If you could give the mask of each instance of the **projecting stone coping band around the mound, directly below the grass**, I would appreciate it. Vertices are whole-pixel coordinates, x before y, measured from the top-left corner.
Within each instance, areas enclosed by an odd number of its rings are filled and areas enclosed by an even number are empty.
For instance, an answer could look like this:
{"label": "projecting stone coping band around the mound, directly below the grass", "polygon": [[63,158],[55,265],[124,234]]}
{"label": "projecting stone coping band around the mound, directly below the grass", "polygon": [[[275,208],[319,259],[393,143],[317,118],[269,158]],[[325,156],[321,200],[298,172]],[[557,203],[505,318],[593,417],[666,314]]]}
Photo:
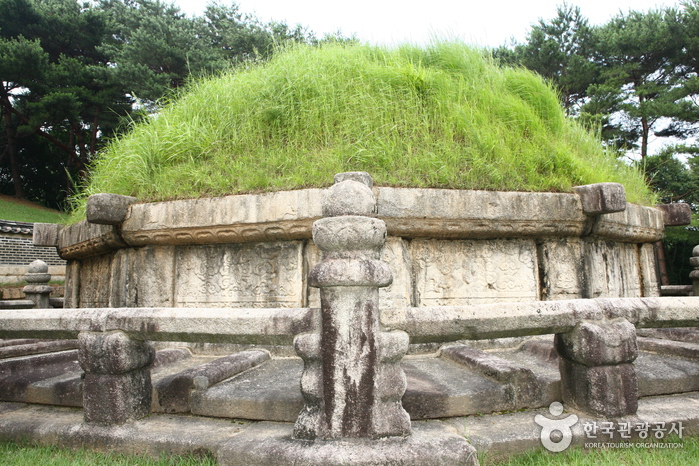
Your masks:
{"label": "projecting stone coping band around the mound, directly below the grass", "polygon": [[[133,204],[120,224],[62,228],[57,245],[74,259],[129,246],[310,239],[325,195],[302,189]],[[593,235],[644,243],[664,231],[659,209],[627,203],[622,212],[586,215],[578,194],[378,187],[374,195],[388,235],[405,238]]]}

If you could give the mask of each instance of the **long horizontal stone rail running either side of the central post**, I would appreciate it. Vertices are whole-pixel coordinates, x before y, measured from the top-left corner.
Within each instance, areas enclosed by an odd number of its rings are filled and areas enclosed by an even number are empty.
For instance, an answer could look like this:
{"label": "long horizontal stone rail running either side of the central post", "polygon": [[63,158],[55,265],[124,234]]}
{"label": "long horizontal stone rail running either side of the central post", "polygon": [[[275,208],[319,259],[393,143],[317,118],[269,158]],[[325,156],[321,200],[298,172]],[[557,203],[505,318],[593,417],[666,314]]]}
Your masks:
{"label": "long horizontal stone rail running either side of the central post", "polygon": [[[76,338],[121,330],[142,340],[291,344],[318,328],[319,311],[222,308],[0,310],[0,338]],[[412,343],[566,333],[583,321],[624,318],[638,328],[699,326],[699,297],[597,298],[470,306],[407,307],[381,312],[385,330]]]}

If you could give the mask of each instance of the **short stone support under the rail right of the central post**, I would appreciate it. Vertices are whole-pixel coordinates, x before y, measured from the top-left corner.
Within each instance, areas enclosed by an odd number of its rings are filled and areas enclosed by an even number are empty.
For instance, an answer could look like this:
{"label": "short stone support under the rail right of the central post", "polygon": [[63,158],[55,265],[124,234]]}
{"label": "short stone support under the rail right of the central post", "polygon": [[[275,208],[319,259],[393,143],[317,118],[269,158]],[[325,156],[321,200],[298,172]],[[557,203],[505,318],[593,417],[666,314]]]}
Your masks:
{"label": "short stone support under the rail right of the central post", "polygon": [[563,402],[602,417],[636,414],[636,328],[626,319],[582,322],[556,335]]}

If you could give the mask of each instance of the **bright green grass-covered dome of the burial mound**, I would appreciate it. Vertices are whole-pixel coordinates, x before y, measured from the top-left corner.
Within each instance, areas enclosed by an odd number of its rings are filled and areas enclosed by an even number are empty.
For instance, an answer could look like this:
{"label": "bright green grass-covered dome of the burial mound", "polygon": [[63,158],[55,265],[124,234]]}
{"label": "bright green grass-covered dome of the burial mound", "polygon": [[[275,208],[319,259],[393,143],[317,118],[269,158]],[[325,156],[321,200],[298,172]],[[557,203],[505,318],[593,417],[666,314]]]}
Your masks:
{"label": "bright green grass-covered dome of the burial mound", "polygon": [[386,49],[295,47],[200,81],[97,159],[97,192],[164,200],[326,186],[569,191],[615,181],[651,196],[637,171],[565,118],[556,93],[460,43]]}

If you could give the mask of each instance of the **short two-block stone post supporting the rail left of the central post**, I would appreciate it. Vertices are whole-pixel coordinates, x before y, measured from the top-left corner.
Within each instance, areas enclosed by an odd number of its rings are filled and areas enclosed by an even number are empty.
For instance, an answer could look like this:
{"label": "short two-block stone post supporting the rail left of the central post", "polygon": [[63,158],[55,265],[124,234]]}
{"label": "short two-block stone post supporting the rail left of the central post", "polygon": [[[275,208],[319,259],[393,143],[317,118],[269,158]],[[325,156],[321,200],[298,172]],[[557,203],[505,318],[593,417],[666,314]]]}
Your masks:
{"label": "short two-block stone post supporting the rail left of the central post", "polygon": [[86,423],[118,425],[150,414],[152,343],[113,331],[81,332],[78,345]]}

